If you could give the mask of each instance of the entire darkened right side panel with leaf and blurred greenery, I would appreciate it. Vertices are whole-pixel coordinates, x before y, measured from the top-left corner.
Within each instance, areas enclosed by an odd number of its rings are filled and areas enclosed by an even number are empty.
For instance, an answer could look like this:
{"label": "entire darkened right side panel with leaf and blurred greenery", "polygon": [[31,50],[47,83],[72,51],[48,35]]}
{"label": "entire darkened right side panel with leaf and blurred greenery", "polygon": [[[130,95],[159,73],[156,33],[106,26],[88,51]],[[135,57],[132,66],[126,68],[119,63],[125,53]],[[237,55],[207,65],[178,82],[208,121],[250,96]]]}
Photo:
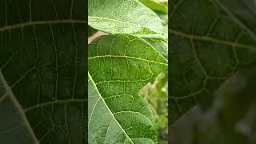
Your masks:
{"label": "entire darkened right side panel with leaf and blurred greenery", "polygon": [[255,1],[170,4],[170,142],[255,143]]}

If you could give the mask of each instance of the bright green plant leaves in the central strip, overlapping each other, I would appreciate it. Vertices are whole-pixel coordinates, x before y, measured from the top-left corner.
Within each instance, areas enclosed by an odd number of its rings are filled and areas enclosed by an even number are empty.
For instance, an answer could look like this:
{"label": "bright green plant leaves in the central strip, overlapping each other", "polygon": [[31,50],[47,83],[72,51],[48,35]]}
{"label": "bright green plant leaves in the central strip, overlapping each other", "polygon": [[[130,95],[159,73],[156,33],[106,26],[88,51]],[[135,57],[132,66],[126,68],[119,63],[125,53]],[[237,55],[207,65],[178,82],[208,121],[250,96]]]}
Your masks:
{"label": "bright green plant leaves in the central strip, overlapping each other", "polygon": [[[142,2],[166,12],[166,1]],[[158,141],[154,115],[139,91],[168,68],[167,25],[146,6],[89,0],[89,26],[109,34],[89,46],[89,143]]]}

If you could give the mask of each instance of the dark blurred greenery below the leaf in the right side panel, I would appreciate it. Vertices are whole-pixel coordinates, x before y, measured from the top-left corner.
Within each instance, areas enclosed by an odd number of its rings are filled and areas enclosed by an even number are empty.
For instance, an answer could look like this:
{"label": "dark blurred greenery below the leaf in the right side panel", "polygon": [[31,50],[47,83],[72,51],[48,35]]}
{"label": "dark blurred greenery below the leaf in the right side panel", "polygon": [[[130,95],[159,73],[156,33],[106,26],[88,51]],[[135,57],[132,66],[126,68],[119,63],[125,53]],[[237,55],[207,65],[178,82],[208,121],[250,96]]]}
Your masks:
{"label": "dark blurred greenery below the leaf in the right side panel", "polygon": [[[215,93],[207,110],[196,106],[171,126],[170,142],[180,144],[256,143],[256,66],[236,74]],[[189,133],[187,133],[189,131]]]}

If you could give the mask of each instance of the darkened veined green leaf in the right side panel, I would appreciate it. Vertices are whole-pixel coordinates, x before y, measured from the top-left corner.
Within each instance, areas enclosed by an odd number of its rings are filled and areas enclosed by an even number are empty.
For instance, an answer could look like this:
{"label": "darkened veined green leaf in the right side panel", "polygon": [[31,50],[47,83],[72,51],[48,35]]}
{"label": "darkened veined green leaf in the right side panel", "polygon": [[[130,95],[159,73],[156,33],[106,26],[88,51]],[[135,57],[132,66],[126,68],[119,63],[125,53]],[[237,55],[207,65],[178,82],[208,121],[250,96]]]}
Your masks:
{"label": "darkened veined green leaf in the right side panel", "polygon": [[200,102],[256,58],[256,9],[252,0],[174,0],[170,12],[170,119]]}

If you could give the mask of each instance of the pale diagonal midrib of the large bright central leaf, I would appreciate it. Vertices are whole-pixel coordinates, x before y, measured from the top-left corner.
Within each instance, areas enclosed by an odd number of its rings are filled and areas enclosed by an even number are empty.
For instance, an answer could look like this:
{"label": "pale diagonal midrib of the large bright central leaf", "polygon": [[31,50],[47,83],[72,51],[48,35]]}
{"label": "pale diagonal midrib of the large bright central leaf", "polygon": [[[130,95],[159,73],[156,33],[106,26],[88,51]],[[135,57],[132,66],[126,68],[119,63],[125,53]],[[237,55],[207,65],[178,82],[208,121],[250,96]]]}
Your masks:
{"label": "pale diagonal midrib of the large bright central leaf", "polygon": [[[122,129],[123,133],[126,134],[126,130],[124,130],[124,129],[122,128],[122,126],[119,124],[118,120],[114,117],[114,114],[113,114],[112,111],[110,110],[109,106],[107,106],[106,102],[104,101],[104,98],[102,98],[102,94],[99,93],[98,88],[97,88],[97,86],[96,86],[96,84],[95,84],[93,78],[91,78],[89,72],[88,72],[88,77],[89,77],[89,79],[91,80],[91,82],[93,83],[95,90],[97,90],[98,95],[99,95],[99,98],[102,99],[102,102],[106,105],[107,110],[110,111],[111,116],[112,116],[112,117],[114,118],[114,120],[118,123],[118,126]],[[93,113],[92,113],[92,114],[93,114]],[[91,115],[90,115],[90,117],[91,117]],[[90,125],[90,123],[88,123],[88,125]],[[132,143],[134,144],[134,142],[131,140],[131,138],[128,136],[128,134],[126,134],[126,137],[129,138],[130,142],[132,142]]]}

